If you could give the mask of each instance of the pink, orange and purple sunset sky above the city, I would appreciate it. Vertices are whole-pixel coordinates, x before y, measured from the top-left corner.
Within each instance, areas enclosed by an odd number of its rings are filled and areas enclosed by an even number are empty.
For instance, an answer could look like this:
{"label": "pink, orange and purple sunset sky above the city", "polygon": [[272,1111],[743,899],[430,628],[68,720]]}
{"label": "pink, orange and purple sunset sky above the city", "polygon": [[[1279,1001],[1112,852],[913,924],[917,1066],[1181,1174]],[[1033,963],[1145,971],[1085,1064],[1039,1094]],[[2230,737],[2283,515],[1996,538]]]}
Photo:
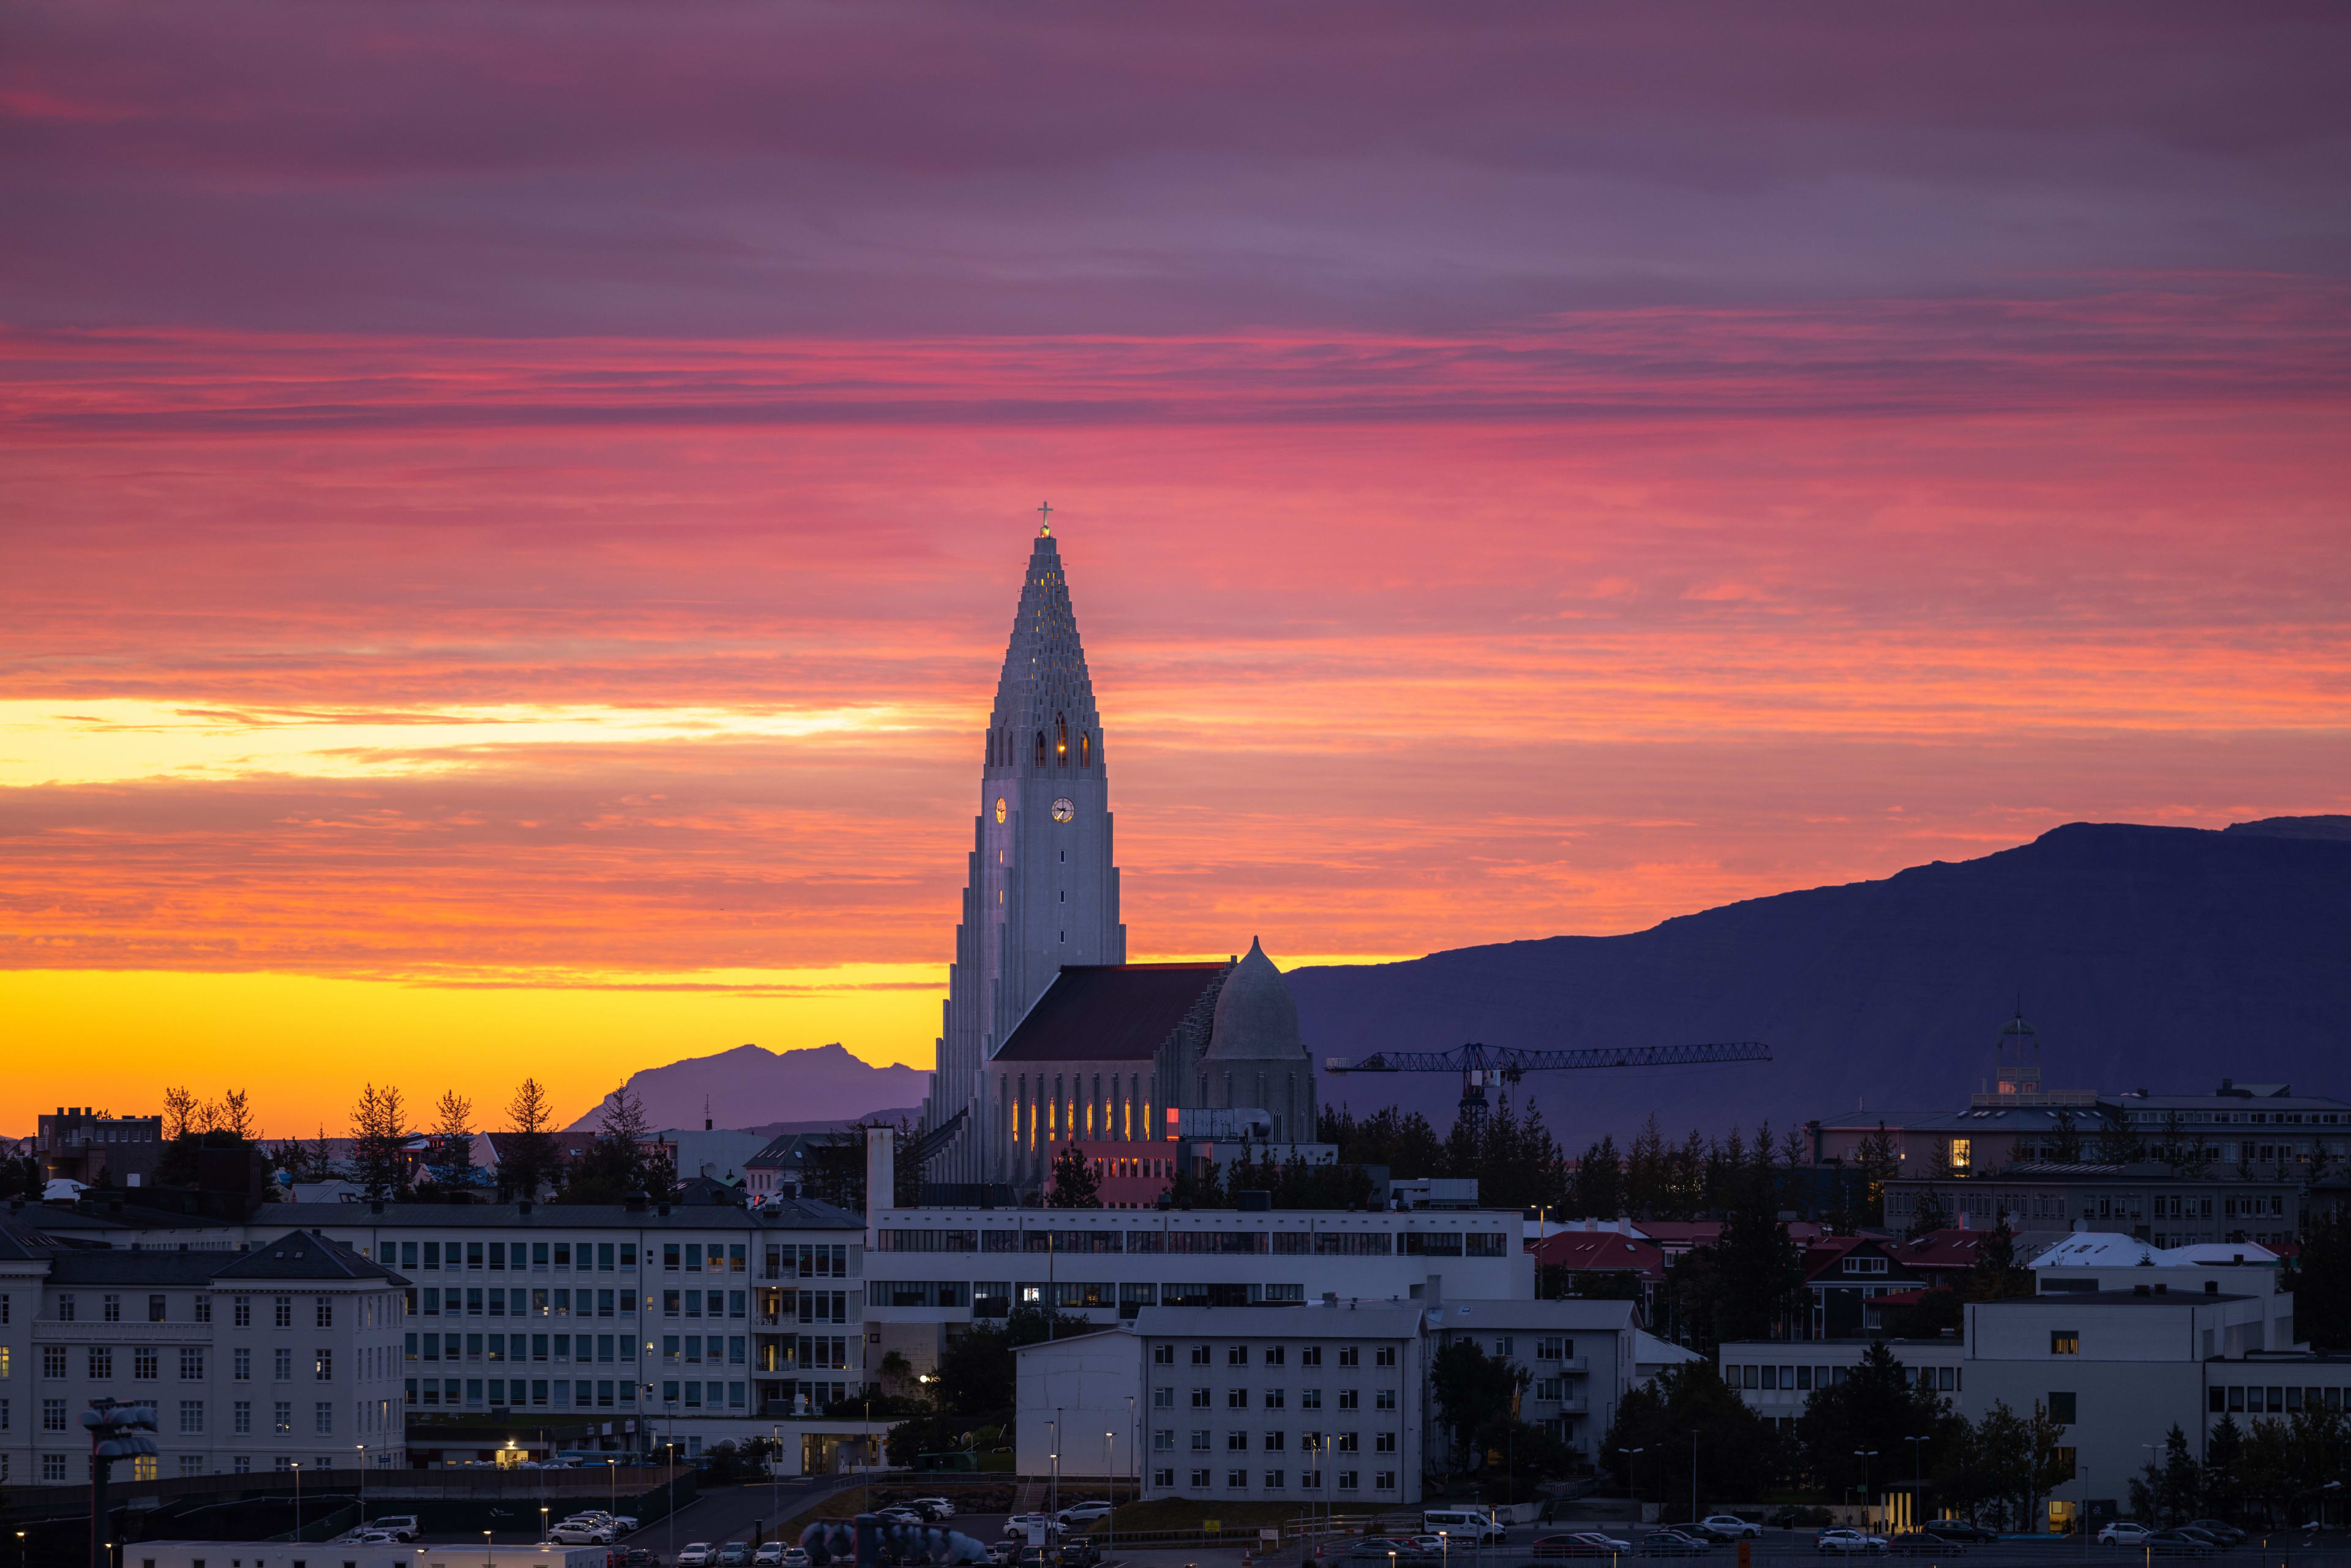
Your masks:
{"label": "pink, orange and purple sunset sky above the city", "polygon": [[[2351,12],[0,12],[0,1131],[2351,811]],[[1432,1041],[1455,1044],[1455,1041]]]}

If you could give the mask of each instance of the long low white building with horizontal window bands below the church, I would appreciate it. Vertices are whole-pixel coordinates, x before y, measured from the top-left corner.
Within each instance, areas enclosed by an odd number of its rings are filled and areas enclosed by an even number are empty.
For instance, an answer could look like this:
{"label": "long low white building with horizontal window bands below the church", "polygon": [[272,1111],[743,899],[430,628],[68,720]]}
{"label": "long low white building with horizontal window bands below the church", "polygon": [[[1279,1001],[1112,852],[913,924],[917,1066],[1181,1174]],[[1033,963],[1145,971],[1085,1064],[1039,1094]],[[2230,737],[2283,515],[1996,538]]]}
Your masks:
{"label": "long low white building with horizontal window bands below the church", "polygon": [[[1173,1147],[1173,1145],[1168,1145]],[[1112,1326],[1150,1307],[1531,1300],[1516,1211],[884,1208],[865,1253],[865,1349],[915,1371],[1013,1305]]]}

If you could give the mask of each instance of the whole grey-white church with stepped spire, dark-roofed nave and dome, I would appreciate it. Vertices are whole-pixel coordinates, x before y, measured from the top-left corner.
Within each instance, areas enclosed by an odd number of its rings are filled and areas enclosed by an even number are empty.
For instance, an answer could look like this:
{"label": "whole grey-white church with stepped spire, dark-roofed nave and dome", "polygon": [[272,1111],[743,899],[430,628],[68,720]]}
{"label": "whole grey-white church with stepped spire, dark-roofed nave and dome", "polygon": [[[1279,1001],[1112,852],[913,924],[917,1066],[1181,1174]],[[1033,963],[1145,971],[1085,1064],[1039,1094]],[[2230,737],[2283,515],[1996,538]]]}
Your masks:
{"label": "whole grey-white church with stepped spire, dark-roofed nave and dome", "polygon": [[[1248,1112],[1307,1143],[1314,1063],[1255,940],[1208,964],[1128,964],[1110,759],[1077,611],[1039,529],[997,701],[922,1131],[955,1124],[926,1178],[957,1201],[1034,1192],[1053,1154],[1166,1157],[1185,1112]],[[957,1117],[962,1121],[957,1124]]]}

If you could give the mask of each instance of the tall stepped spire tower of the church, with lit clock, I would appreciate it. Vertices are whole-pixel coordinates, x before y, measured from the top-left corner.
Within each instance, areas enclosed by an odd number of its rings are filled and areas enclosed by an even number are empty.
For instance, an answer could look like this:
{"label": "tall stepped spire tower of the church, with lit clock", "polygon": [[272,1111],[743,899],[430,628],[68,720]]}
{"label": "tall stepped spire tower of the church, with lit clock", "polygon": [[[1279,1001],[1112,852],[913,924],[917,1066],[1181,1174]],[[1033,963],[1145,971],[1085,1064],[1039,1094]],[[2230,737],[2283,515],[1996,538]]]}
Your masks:
{"label": "tall stepped spire tower of the church, with lit clock", "polygon": [[969,1110],[938,1182],[1002,1180],[987,1150],[987,1060],[1063,964],[1124,964],[1103,719],[1051,524],[1030,550],[997,703],[980,736],[980,813],[924,1128]]}

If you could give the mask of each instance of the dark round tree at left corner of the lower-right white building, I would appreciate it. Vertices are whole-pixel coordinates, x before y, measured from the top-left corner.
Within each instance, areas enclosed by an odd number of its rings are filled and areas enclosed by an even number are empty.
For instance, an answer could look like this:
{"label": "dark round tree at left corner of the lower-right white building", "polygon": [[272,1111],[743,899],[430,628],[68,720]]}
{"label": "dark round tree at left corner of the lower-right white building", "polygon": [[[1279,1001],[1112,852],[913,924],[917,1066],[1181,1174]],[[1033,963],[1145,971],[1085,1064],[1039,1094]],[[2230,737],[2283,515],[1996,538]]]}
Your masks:
{"label": "dark round tree at left corner of the lower-right white building", "polygon": [[1702,1516],[1707,1497],[1761,1497],[1784,1469],[1780,1436],[1723,1382],[1712,1361],[1669,1366],[1617,1401],[1601,1453],[1627,1495],[1634,1495],[1632,1448],[1646,1450],[1636,1495],[1655,1500],[1667,1521],[1693,1516],[1686,1514],[1693,1490]]}

